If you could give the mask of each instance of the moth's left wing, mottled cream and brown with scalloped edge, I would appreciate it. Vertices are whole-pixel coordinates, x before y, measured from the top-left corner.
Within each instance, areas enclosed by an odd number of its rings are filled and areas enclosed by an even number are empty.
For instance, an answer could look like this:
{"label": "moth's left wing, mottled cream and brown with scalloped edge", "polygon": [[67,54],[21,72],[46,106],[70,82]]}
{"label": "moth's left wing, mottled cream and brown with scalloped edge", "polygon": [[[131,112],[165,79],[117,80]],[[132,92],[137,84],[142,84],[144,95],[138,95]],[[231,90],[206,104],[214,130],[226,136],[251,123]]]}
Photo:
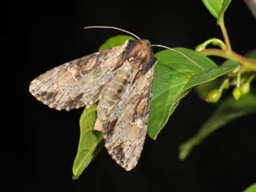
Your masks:
{"label": "moth's left wing, mottled cream and brown with scalloped edge", "polygon": [[57,110],[92,105],[102,87],[118,71],[128,42],[93,53],[43,73],[30,83],[30,93]]}

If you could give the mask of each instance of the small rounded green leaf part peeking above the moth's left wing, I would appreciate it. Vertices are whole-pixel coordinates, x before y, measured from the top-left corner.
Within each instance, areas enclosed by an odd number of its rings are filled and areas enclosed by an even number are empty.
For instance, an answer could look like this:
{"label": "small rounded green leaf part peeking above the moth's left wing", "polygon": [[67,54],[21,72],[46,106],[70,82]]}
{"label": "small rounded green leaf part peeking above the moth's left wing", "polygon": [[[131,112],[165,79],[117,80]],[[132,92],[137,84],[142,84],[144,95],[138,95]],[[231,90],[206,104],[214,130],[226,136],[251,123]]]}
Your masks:
{"label": "small rounded green leaf part peeking above the moth's left wing", "polygon": [[131,36],[114,36],[108,39],[102,46],[99,47],[99,50],[105,50],[111,47],[116,47],[125,43],[126,40],[134,39]]}

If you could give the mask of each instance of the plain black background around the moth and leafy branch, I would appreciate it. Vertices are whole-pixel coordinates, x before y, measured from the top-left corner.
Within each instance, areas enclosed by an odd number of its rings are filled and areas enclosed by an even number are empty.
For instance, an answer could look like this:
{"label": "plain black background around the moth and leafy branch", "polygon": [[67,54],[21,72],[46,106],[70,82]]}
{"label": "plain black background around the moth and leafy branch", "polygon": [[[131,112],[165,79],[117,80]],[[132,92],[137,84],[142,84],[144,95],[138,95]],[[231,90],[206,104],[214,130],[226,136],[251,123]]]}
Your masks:
{"label": "plain black background around the moth and leafy branch", "polygon": [[[69,113],[51,110],[28,93],[36,76],[93,53],[106,39],[120,34],[83,30],[85,26],[121,27],[154,44],[191,49],[211,37],[221,38],[215,19],[201,1],[7,1],[5,7],[5,50],[10,50],[10,61],[18,59],[7,64],[11,71],[16,70],[8,85],[13,85],[10,96],[18,104],[10,102],[11,113],[6,112],[15,117],[4,128],[11,136],[3,145],[6,191],[238,192],[256,181],[255,115],[229,123],[184,162],[178,159],[178,146],[214,111],[213,105],[202,102],[193,91],[158,139],[146,139],[133,171],[116,165],[104,149],[73,181],[82,109]],[[255,48],[256,22],[243,1],[230,5],[226,27],[238,53]]]}

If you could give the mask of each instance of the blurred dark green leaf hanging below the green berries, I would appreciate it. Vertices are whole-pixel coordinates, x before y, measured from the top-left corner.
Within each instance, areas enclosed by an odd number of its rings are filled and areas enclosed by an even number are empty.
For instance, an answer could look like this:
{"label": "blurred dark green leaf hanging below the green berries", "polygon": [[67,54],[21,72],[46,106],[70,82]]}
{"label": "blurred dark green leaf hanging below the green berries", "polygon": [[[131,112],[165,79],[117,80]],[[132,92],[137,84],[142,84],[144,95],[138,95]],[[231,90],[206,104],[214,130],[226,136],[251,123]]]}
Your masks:
{"label": "blurred dark green leaf hanging below the green berries", "polygon": [[215,112],[195,136],[180,145],[180,159],[186,159],[194,146],[203,142],[209,134],[240,116],[256,113],[256,94],[249,93],[235,101],[233,96],[221,102]]}

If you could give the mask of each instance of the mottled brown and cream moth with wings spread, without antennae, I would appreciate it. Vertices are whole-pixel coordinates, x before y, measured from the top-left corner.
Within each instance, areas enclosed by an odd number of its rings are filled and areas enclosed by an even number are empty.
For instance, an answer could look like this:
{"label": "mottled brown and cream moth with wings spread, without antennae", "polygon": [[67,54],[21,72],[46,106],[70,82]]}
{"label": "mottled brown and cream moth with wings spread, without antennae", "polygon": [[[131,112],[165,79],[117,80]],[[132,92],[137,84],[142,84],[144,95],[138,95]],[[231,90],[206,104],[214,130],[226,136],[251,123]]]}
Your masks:
{"label": "mottled brown and cream moth with wings spread, without antennae", "polygon": [[156,63],[148,40],[128,40],[43,73],[29,91],[56,110],[98,102],[93,129],[102,132],[116,163],[130,171],[140,159],[147,133]]}

